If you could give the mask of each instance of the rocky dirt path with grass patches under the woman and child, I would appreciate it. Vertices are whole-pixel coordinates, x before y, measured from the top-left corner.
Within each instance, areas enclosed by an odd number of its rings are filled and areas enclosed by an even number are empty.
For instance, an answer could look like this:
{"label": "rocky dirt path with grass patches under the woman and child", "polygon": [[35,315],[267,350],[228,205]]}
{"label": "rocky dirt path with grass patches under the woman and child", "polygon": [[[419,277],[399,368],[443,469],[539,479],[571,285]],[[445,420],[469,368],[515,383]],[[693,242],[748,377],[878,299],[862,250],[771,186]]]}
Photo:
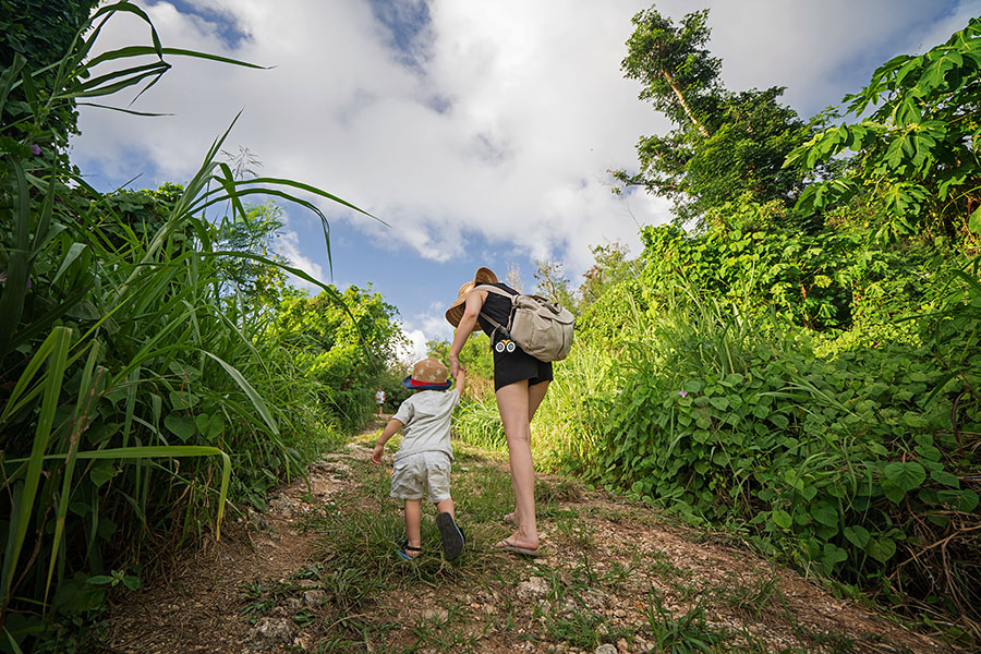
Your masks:
{"label": "rocky dirt path with grass patches under the woman and child", "polygon": [[368,461],[373,440],[326,456],[308,486],[279,488],[265,512],[129,595],[111,611],[109,651],[956,652],[746,548],[565,477],[542,475],[536,488],[546,555],[495,552],[509,533],[506,461],[462,446],[453,497],[464,554],[441,559],[431,511],[426,552],[401,562],[391,544],[400,507]]}

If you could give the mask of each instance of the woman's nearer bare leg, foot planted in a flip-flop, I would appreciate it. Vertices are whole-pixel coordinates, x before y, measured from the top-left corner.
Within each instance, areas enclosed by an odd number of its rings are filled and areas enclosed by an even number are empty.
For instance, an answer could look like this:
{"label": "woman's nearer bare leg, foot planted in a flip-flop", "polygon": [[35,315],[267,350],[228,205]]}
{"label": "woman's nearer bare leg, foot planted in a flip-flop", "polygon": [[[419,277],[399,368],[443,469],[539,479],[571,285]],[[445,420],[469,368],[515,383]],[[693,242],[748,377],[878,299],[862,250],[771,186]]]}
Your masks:
{"label": "woman's nearer bare leg, foot planted in a flip-flop", "polygon": [[538,529],[535,524],[535,469],[531,456],[528,380],[516,382],[499,389],[497,409],[508,440],[508,461],[518,519],[518,531],[508,541],[518,547],[536,549]]}

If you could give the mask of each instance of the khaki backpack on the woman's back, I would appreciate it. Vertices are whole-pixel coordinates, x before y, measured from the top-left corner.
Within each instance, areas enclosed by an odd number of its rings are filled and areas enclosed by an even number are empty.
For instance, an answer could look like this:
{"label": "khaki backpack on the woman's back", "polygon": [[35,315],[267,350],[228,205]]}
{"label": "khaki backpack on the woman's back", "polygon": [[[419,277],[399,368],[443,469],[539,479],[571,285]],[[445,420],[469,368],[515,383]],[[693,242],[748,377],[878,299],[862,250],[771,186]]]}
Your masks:
{"label": "khaki backpack on the woman's back", "polygon": [[576,318],[569,310],[541,295],[511,294],[491,284],[481,284],[473,290],[488,291],[511,301],[507,327],[483,312],[481,315],[494,325],[495,331],[499,330],[504,338],[514,341],[525,353],[545,362],[561,361],[569,355],[572,330],[576,328]]}

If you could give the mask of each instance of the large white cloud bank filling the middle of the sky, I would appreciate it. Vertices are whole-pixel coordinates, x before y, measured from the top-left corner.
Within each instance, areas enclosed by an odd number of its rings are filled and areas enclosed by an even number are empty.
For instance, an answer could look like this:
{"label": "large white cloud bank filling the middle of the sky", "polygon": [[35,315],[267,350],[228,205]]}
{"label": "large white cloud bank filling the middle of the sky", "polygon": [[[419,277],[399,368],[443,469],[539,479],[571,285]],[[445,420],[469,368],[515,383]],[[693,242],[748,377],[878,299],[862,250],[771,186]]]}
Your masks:
{"label": "large white cloud bank filling the middle of the sky", "polygon": [[[145,119],[83,110],[76,158],[107,166],[135,149],[158,180],[185,179],[205,145],[242,108],[229,144],[264,170],[319,185],[391,223],[363,229],[435,262],[477,239],[534,257],[588,263],[598,240],[637,240],[606,170],[629,166],[658,119],[619,71],[638,2],[431,3],[422,71],[402,65],[367,3],[211,0],[249,35],[220,32],[170,4],[148,8],[166,45],[275,65],[268,71],[174,59],[138,102]],[[518,16],[520,20],[516,20]],[[104,48],[145,29],[113,21]],[[132,161],[132,158],[128,159]],[[118,168],[108,168],[118,174]],[[335,207],[329,207],[337,216]],[[664,207],[639,203],[642,222]]]}

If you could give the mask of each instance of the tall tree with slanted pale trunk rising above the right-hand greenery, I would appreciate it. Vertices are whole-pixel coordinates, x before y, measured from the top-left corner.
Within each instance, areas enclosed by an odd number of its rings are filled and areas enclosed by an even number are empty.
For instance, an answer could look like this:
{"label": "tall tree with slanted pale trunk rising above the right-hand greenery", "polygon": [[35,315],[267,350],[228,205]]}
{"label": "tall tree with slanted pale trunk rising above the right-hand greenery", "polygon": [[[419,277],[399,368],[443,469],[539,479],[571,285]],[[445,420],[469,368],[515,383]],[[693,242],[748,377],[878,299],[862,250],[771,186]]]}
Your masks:
{"label": "tall tree with slanted pale trunk rising above the right-hand greenery", "polygon": [[812,133],[777,101],[783,87],[722,87],[722,62],[704,47],[707,16],[707,10],[687,14],[676,27],[653,7],[638,13],[621,64],[628,78],[644,85],[639,97],[676,126],[664,136],[641,137],[640,171],[617,170],[614,178],[671,198],[680,222],[701,223],[706,210],[747,194],[753,202],[790,204],[802,174],[783,162]]}

